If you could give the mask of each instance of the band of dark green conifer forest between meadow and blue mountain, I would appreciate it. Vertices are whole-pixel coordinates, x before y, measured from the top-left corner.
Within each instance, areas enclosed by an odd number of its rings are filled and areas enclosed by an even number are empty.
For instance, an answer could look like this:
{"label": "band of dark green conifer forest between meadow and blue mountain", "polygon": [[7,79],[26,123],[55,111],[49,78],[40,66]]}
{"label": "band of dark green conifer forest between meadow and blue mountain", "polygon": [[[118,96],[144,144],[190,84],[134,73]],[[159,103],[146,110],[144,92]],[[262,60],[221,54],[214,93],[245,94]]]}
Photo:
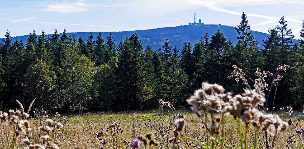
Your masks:
{"label": "band of dark green conifer forest between meadow and blue mountain", "polygon": [[55,29],[50,37],[34,30],[26,41],[12,41],[7,31],[0,45],[0,109],[15,108],[16,100],[27,107],[34,98],[33,108],[61,113],[153,109],[160,99],[187,108],[185,99],[205,81],[242,93],[242,82],[227,78],[233,65],[254,77],[256,68],[275,72],[281,64],[290,69],[278,84],[274,106],[302,108],[304,22],[302,39],[294,42],[282,17],[269,29],[262,49],[245,13],[235,29],[236,46],[218,30],[202,35],[194,46],[185,41],[182,49],[168,38],[159,49],[143,47],[136,33],[116,45],[111,34],[96,40],[91,34],[84,41],[67,36],[66,30],[60,36]]}

